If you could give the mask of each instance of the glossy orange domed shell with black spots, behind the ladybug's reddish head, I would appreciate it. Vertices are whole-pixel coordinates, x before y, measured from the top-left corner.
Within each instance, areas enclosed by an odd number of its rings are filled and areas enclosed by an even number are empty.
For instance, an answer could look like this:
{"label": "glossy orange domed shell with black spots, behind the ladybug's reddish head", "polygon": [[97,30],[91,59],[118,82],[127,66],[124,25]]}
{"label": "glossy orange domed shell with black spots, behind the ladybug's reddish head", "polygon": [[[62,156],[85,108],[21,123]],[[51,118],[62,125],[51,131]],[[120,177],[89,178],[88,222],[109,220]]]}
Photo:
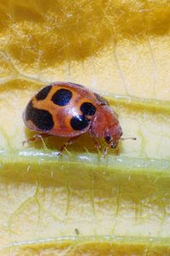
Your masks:
{"label": "glossy orange domed shell with black spots, behind the ladybug's reddish head", "polygon": [[104,98],[82,85],[57,82],[42,88],[26,106],[23,119],[34,131],[76,137],[88,131]]}

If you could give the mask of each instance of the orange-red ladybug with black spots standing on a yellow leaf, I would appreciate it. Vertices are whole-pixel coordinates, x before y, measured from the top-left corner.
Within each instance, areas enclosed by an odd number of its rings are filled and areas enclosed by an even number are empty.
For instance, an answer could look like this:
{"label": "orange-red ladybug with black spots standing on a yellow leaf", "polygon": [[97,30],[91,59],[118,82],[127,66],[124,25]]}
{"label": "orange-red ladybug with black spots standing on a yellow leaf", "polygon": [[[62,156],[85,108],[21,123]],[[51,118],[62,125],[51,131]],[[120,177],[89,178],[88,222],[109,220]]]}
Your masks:
{"label": "orange-red ladybug with black spots standing on a yellow leaf", "polygon": [[27,128],[39,131],[43,137],[70,137],[59,154],[86,132],[94,139],[96,148],[100,148],[98,138],[105,139],[107,148],[116,148],[122,137],[117,114],[109,103],[80,84],[56,82],[42,88],[27,104],[23,119]]}

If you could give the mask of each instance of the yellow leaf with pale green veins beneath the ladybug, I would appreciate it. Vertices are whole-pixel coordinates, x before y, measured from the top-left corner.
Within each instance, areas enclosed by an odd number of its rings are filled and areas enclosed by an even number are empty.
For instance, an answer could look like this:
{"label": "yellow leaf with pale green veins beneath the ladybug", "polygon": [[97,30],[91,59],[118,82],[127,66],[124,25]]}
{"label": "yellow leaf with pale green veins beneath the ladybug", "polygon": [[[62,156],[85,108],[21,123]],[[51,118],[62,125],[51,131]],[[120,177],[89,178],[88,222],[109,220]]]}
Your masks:
{"label": "yellow leaf with pale green veins beneath the ladybug", "polygon": [[[1,1],[0,254],[169,255],[170,3]],[[45,84],[105,96],[124,137],[104,157],[88,135],[34,133],[22,113]]]}

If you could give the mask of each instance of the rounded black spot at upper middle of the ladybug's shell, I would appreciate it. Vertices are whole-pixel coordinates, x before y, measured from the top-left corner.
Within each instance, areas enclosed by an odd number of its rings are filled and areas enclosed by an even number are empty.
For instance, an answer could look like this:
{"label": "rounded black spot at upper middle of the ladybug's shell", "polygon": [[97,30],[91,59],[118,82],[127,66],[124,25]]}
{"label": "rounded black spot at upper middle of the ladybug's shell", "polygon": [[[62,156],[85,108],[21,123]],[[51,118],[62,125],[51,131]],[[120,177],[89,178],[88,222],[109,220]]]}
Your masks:
{"label": "rounded black spot at upper middle of the ladybug's shell", "polygon": [[71,101],[71,97],[71,90],[59,89],[54,93],[51,100],[58,106],[66,106]]}

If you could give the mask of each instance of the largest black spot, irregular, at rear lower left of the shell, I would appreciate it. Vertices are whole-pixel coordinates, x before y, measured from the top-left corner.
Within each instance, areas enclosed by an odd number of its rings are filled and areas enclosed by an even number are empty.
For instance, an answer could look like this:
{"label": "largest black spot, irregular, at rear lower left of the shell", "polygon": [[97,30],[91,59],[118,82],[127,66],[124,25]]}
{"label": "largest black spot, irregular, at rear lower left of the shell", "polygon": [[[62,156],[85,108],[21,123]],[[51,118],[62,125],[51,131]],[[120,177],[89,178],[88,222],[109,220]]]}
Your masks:
{"label": "largest black spot, irregular, at rear lower left of the shell", "polygon": [[54,127],[54,120],[47,110],[34,108],[32,102],[26,107],[26,120],[31,120],[38,129],[49,131]]}

